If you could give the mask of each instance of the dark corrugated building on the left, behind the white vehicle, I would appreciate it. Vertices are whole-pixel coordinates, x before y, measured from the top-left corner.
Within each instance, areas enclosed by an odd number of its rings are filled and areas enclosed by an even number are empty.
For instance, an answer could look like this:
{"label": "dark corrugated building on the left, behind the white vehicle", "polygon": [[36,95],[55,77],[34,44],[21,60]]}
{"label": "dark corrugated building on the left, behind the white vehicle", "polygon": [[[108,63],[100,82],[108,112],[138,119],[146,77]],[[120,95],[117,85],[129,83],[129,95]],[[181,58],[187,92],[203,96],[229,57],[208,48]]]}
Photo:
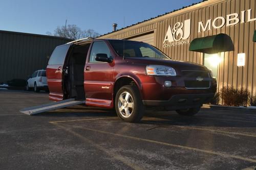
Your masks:
{"label": "dark corrugated building on the left, behind the white vehicle", "polygon": [[28,79],[35,70],[45,69],[47,56],[57,45],[70,40],[35,34],[0,31],[0,83]]}

